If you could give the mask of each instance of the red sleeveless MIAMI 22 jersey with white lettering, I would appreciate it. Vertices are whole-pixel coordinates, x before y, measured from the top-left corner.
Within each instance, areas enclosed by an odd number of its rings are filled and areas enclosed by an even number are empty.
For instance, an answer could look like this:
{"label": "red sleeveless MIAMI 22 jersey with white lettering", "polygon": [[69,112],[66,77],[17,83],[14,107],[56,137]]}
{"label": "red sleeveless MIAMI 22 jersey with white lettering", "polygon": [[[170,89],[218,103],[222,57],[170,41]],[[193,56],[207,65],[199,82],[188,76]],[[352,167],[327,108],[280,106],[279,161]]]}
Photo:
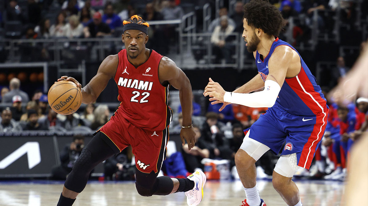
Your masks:
{"label": "red sleeveless MIAMI 22 jersey with white lettering", "polygon": [[144,130],[162,131],[169,126],[173,111],[167,103],[169,87],[162,86],[158,69],[162,55],[150,50],[146,62],[137,68],[127,58],[125,49],[118,53],[119,63],[114,80],[121,102],[110,121],[124,118]]}

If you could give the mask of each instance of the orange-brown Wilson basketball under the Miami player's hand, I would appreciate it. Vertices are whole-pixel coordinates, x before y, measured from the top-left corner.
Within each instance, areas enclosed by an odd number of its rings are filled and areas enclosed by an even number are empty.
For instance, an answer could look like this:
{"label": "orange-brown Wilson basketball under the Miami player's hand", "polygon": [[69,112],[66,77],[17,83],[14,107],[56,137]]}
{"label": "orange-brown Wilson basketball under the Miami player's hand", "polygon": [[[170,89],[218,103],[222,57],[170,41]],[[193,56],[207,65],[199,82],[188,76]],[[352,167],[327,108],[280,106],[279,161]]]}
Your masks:
{"label": "orange-brown Wilson basketball under the Miami player's hand", "polygon": [[71,81],[62,80],[53,84],[47,93],[52,110],[61,115],[76,112],[82,103],[82,91]]}

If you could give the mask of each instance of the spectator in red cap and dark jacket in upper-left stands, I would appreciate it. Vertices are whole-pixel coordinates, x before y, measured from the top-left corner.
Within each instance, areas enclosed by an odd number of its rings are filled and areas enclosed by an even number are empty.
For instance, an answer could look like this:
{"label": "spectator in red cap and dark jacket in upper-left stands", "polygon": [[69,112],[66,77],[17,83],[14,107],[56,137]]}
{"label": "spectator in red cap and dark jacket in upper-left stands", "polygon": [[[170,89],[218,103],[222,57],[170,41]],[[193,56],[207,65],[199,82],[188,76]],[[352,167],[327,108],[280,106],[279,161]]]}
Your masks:
{"label": "spectator in red cap and dark jacket in upper-left stands", "polygon": [[83,32],[86,38],[111,35],[111,29],[109,25],[102,22],[100,12],[93,14],[93,21],[84,28]]}

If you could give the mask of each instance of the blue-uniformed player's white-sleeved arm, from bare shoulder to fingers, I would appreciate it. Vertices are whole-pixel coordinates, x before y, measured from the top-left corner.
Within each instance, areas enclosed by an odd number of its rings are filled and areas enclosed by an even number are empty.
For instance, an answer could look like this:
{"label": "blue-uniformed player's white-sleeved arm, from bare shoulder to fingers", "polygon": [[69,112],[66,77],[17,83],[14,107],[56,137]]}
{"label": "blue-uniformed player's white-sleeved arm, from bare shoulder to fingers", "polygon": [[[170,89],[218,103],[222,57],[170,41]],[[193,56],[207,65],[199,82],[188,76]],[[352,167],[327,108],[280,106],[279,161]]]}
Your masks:
{"label": "blue-uniformed player's white-sleeved arm, from bare shoulder to fingers", "polygon": [[293,55],[293,50],[290,47],[276,47],[268,61],[269,73],[265,81],[265,89],[262,91],[251,94],[227,92],[219,83],[209,82],[205,90],[205,96],[210,95],[220,101],[255,108],[272,107],[284,83]]}

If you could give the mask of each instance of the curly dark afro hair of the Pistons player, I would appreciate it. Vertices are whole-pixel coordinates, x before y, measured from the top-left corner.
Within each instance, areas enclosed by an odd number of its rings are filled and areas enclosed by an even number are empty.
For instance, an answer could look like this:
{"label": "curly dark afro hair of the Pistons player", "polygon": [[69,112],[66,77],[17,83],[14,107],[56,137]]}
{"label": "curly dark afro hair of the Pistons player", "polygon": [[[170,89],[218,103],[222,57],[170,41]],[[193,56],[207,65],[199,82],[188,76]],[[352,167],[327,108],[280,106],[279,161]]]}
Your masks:
{"label": "curly dark afro hair of the Pistons player", "polygon": [[268,1],[251,0],[244,5],[244,18],[248,25],[262,29],[268,35],[278,36],[284,27],[281,12]]}

